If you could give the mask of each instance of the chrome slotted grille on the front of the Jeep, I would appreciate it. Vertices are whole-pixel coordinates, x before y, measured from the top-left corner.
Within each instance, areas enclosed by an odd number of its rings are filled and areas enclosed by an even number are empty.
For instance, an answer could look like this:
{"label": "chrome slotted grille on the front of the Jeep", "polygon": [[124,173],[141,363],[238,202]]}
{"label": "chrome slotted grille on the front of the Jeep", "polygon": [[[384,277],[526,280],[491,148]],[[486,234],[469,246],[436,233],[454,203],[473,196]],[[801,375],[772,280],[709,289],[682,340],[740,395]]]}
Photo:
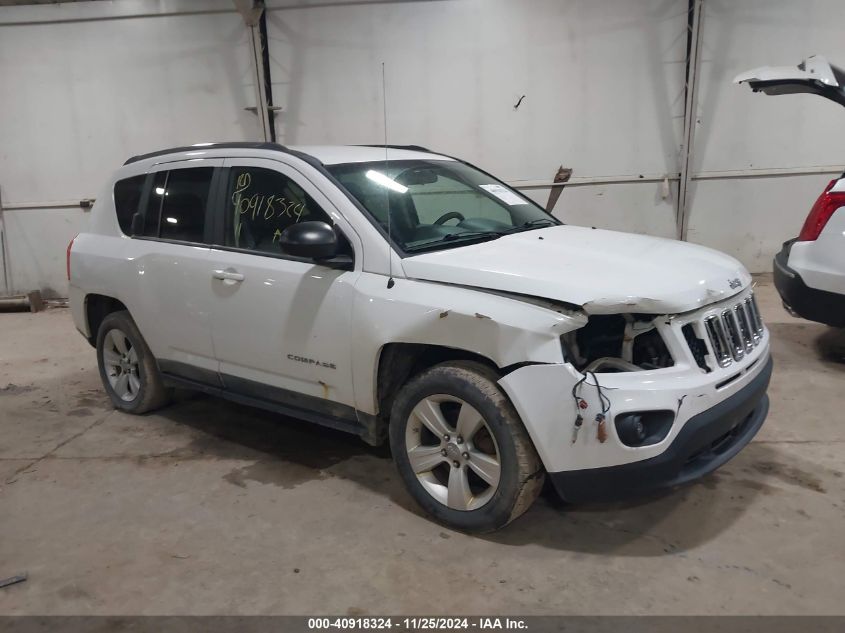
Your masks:
{"label": "chrome slotted grille on the front of the Jeep", "polygon": [[754,295],[735,306],[704,319],[710,347],[720,367],[727,367],[750,354],[763,339],[763,321]]}

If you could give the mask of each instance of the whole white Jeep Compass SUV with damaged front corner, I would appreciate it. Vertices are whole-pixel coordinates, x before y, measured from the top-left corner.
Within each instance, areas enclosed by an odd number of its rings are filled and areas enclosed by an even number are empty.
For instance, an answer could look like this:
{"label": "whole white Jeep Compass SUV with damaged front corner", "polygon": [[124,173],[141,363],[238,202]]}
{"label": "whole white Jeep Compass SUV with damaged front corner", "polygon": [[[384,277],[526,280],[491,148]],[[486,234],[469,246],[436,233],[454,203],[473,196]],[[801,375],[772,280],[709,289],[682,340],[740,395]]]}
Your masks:
{"label": "whole white Jeep Compass SUV with damaged front corner", "polygon": [[129,159],[68,246],[114,405],[171,386],[389,439],[438,521],[493,530],[681,484],[768,410],[751,277],[681,242],[565,226],[419,147],[203,144]]}

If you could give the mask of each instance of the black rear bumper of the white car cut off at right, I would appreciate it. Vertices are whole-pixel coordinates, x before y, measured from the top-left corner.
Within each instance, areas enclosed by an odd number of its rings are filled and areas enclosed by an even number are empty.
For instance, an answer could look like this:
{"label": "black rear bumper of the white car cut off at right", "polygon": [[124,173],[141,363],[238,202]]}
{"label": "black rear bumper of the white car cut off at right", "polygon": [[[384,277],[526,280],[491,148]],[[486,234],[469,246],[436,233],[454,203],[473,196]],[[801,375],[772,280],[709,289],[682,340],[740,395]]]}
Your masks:
{"label": "black rear bumper of the white car cut off at right", "polygon": [[786,306],[809,321],[845,327],[845,295],[810,288],[789,267],[789,251],[795,240],[784,242],[773,262],[775,288]]}

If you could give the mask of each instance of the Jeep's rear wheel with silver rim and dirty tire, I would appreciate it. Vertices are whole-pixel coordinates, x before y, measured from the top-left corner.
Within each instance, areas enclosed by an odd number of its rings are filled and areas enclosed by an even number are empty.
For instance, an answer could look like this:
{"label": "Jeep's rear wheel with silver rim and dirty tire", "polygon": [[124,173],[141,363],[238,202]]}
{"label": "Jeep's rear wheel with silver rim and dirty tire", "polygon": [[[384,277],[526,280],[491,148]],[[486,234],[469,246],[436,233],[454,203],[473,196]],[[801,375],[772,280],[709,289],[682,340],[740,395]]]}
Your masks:
{"label": "Jeep's rear wheel with silver rim and dirty tire", "polygon": [[156,360],[126,310],[108,314],[100,324],[97,365],[103,387],[116,409],[146,413],[170,399]]}

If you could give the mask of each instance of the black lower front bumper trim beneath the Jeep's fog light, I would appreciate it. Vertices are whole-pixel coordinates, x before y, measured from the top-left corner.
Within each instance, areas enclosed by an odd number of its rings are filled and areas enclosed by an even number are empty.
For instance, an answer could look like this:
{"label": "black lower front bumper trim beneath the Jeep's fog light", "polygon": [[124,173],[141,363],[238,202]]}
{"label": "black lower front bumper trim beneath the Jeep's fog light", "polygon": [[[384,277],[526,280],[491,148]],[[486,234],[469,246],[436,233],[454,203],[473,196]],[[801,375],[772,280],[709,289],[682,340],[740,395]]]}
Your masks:
{"label": "black lower front bumper trim beneath the Jeep's fog light", "polygon": [[660,455],[606,468],[548,473],[567,501],[611,501],[671,488],[713,472],[757,434],[769,411],[771,358],[743,389],[687,420]]}

